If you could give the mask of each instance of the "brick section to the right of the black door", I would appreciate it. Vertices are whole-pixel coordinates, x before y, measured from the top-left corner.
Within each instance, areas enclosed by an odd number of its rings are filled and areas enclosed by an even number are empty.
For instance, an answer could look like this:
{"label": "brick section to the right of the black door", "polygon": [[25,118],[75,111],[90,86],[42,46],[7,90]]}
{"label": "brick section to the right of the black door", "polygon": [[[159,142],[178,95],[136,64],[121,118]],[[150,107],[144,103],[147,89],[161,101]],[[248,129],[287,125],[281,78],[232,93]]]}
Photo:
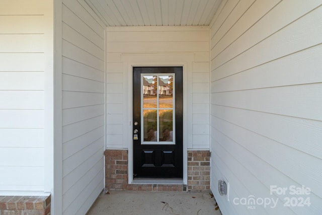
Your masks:
{"label": "brick section to the right of the black door", "polygon": [[209,151],[188,151],[188,190],[210,190]]}

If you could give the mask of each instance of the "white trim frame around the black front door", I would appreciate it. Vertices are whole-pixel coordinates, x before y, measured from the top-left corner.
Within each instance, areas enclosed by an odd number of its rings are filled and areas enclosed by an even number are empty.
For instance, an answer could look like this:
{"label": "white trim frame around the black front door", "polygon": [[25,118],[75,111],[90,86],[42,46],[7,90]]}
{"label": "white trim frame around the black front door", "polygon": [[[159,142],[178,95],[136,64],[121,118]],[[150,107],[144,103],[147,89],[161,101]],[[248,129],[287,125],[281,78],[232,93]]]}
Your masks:
{"label": "white trim frame around the black front door", "polygon": [[[133,67],[141,66],[141,67],[151,67],[151,66],[182,66],[182,76],[183,76],[183,184],[188,184],[188,144],[187,144],[187,79],[188,79],[188,63],[187,62],[144,62],[144,63],[135,63],[135,62],[128,62],[127,63],[127,70],[128,70],[128,96],[130,97],[130,102],[128,103],[128,116],[130,121],[130,129],[128,130],[128,184],[133,184]],[[192,65],[191,65],[192,66]]]}

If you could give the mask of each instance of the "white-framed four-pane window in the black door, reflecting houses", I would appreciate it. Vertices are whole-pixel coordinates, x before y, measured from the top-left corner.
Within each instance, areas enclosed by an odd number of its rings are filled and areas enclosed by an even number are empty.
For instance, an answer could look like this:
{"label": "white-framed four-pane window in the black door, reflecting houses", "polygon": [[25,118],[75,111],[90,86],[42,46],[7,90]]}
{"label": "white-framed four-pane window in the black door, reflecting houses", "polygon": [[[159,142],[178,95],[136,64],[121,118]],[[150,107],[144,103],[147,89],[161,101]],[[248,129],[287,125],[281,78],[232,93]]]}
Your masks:
{"label": "white-framed four-pane window in the black door, reflecting houses", "polygon": [[141,74],[141,144],[175,144],[174,78],[174,74]]}

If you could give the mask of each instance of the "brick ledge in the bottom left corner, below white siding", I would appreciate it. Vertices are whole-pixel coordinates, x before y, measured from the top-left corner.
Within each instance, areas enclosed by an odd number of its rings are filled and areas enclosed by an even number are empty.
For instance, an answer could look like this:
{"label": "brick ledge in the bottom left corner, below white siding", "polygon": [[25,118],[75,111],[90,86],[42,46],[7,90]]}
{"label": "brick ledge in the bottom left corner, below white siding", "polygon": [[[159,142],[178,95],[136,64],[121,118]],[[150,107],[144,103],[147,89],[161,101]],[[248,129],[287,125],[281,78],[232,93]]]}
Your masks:
{"label": "brick ledge in the bottom left corner, below white siding", "polygon": [[0,196],[0,215],[50,215],[50,196]]}

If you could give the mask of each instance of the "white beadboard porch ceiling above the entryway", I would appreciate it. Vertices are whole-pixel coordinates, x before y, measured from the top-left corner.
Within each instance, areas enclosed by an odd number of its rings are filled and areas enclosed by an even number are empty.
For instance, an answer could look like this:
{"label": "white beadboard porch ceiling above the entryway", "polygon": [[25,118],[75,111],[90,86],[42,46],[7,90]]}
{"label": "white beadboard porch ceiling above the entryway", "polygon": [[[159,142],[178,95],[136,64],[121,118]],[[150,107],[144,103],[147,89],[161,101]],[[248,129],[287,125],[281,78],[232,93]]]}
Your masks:
{"label": "white beadboard porch ceiling above the entryway", "polygon": [[106,26],[209,25],[222,0],[85,0]]}

